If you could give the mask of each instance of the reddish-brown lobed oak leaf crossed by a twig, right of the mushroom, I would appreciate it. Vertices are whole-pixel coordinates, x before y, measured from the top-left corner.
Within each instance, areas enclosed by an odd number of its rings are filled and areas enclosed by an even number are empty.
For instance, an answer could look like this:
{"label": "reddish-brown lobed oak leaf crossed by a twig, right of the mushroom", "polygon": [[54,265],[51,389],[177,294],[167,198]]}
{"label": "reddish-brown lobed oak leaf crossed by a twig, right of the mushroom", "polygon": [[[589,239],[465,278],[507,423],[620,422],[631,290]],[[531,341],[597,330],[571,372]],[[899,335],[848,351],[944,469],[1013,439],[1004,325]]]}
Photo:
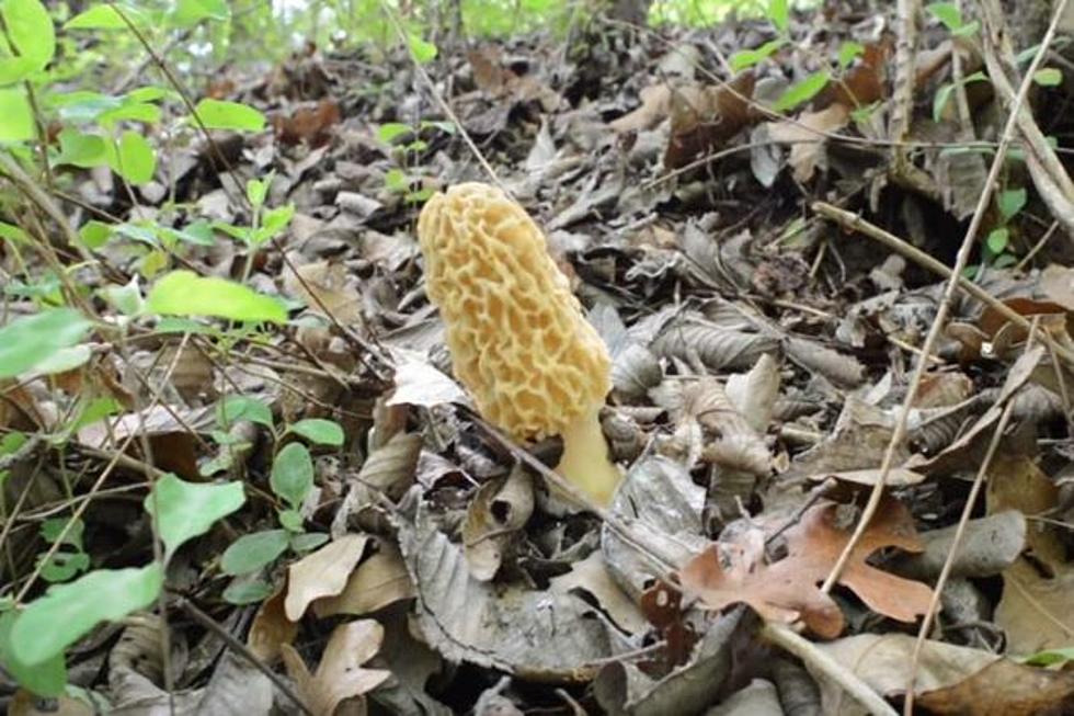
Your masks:
{"label": "reddish-brown lobed oak leaf crossed by a twig, right of the mushroom", "polygon": [[[756,530],[744,533],[744,544],[711,545],[679,570],[684,590],[696,594],[707,609],[722,610],[745,602],[767,620],[789,623],[801,618],[819,636],[838,636],[843,614],[818,589],[850,536],[835,524],[837,509],[836,504],[823,503],[807,511],[797,525],[787,530],[788,554],[775,564],[764,562],[764,539]],[[922,548],[910,512],[893,498],[884,498],[852,553],[839,583],[873,611],[913,622],[928,607],[932,590],[869,566],[866,559],[883,547],[907,552]]]}

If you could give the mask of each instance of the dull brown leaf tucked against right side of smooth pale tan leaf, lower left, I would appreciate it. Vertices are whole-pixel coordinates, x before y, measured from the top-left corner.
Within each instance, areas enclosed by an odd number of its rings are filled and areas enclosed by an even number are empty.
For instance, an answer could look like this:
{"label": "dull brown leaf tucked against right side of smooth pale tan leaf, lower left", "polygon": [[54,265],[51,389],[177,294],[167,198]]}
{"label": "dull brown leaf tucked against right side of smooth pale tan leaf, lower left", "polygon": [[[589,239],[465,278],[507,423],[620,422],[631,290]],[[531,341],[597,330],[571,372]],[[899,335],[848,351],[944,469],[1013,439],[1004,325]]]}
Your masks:
{"label": "dull brown leaf tucked against right side of smooth pale tan leaf, lower left", "polygon": [[378,542],[377,552],[351,572],[343,591],[316,600],[312,607],[318,618],[335,614],[361,616],[413,596],[414,584],[399,547]]}

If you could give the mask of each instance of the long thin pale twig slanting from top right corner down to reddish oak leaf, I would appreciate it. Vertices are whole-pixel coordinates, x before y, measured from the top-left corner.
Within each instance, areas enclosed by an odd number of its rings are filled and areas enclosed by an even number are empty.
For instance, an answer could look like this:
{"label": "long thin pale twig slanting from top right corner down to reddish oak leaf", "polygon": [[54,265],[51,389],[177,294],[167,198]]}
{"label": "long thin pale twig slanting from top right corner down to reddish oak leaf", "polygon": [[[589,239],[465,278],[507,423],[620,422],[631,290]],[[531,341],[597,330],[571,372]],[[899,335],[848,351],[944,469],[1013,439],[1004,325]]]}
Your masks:
{"label": "long thin pale twig slanting from top right corner down to reddish oak leaf", "polygon": [[[1060,3],[1060,9],[1065,7],[1066,0],[1062,0]],[[843,569],[850,559],[850,555],[853,555],[854,550],[857,549],[858,544],[860,544],[861,538],[865,536],[866,530],[869,529],[869,523],[872,521],[877,510],[880,508],[880,499],[883,497],[883,489],[888,481],[888,475],[891,473],[891,468],[894,464],[895,452],[906,437],[906,423],[910,418],[911,408],[914,404],[914,398],[917,396],[917,389],[921,387],[922,378],[925,376],[925,370],[928,366],[927,357],[932,354],[933,346],[936,344],[936,340],[939,338],[944,323],[947,321],[947,316],[950,312],[951,304],[953,303],[955,291],[959,286],[959,279],[962,276],[962,271],[966,269],[967,263],[969,263],[970,251],[973,248],[973,242],[976,239],[978,231],[981,228],[981,223],[984,219],[984,214],[989,207],[989,202],[992,200],[992,192],[995,189],[996,179],[999,177],[999,170],[1003,168],[1004,161],[1006,160],[1007,148],[1010,146],[1010,138],[1014,136],[1015,126],[1018,123],[1018,111],[1026,101],[1026,95],[1029,93],[1029,88],[1032,86],[1033,73],[1037,71],[1041,59],[1043,59],[1044,55],[1047,54],[1049,43],[1051,42],[1052,37],[1054,37],[1058,18],[1058,14],[1053,16],[1052,25],[1049,27],[1049,32],[1044,36],[1044,41],[1037,50],[1037,56],[1033,57],[1033,61],[1026,71],[1026,77],[1022,78],[1021,86],[1018,88],[1018,95],[1015,98],[1015,102],[1010,107],[1010,116],[1007,117],[1007,123],[1003,128],[999,147],[996,149],[996,156],[992,160],[992,167],[989,168],[989,175],[985,179],[984,187],[981,191],[981,197],[978,200],[976,208],[973,212],[973,218],[970,219],[970,226],[966,230],[966,237],[963,237],[962,245],[959,247],[958,254],[955,259],[955,266],[951,269],[951,276],[947,282],[947,285],[944,287],[944,295],[940,298],[936,317],[933,319],[933,325],[928,329],[925,343],[922,345],[922,355],[914,364],[914,373],[910,378],[910,385],[906,389],[906,397],[903,399],[902,406],[899,410],[899,417],[895,420],[895,428],[891,433],[891,440],[888,441],[888,447],[884,451],[883,462],[880,465],[880,475],[877,477],[877,481],[872,486],[872,491],[869,493],[869,501],[866,503],[866,507],[861,512],[861,519],[858,520],[858,524],[854,529],[854,534],[846,543],[846,546],[843,548],[843,554],[839,555],[835,566],[832,567],[832,571],[821,586],[821,590],[825,594],[831,592],[832,588],[838,581],[839,576],[843,573]]]}

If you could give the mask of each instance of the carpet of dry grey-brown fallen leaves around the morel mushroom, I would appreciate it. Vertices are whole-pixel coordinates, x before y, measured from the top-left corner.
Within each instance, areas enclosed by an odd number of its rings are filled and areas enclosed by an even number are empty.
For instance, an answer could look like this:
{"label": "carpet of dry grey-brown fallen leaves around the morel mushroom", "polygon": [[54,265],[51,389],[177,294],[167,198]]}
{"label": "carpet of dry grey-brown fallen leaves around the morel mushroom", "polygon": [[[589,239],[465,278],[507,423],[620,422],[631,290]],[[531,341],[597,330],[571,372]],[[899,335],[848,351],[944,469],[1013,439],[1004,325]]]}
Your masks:
{"label": "carpet of dry grey-brown fallen leaves around the morel mushroom", "polygon": [[[182,268],[198,281],[245,271],[289,302],[290,326],[237,344],[204,322],[147,333],[129,351],[94,344],[64,356],[55,376],[5,377],[0,425],[68,431],[70,457],[90,474],[117,462],[108,498],[83,518],[84,542],[65,547],[102,561],[151,553],[147,515],[112,499],[142,490],[147,466],[241,478],[258,499],[176,553],[167,621],[149,609],[122,630],[93,630],[69,652],[72,680],[77,671],[81,686],[132,714],[169,703],[296,713],[295,700],[325,715],[493,713],[488,704],[790,712],[786,694],[801,683],[810,713],[867,713],[848,681],[890,704],[913,684],[934,713],[1065,713],[1067,672],[1024,659],[1069,663],[1074,644],[1074,374],[1062,357],[1074,348],[1074,298],[1061,239],[1026,270],[979,249],[975,280],[994,303],[959,296],[880,509],[822,589],[879,479],[944,276],[820,219],[803,195],[837,200],[949,265],[979,191],[933,196],[896,175],[873,141],[896,101],[891,48],[837,15],[830,33],[810,16],[793,15],[793,43],[734,73],[722,60],[733,67],[736,52],[776,39],[772,26],[642,32],[593,19],[565,52],[544,35],[442,46],[425,67],[431,86],[400,48],[378,69],[311,47],[241,89],[210,88],[272,106],[271,128],[218,132],[168,158],[186,208],[161,220],[176,231],[237,223],[248,211],[233,197],[239,178],[275,172],[268,205],[294,207],[279,241],[243,270],[236,247],[192,240]],[[811,42],[839,58],[838,81],[774,114],[812,62]],[[860,49],[845,57],[852,42]],[[923,42],[911,81],[933,100],[968,68],[953,69],[962,50],[935,23]],[[358,82],[380,91],[346,91]],[[1037,109],[1061,101],[1060,89],[1042,88]],[[1002,105],[973,102],[994,134],[997,113],[985,109]],[[983,181],[937,148],[935,137],[964,129],[955,115],[927,115],[914,116],[923,171],[940,184],[957,171]],[[490,179],[464,129],[544,227],[608,348],[613,389],[599,418],[624,475],[606,509],[549,510],[561,441],[504,437],[453,377],[415,223],[433,192]],[[233,175],[213,169],[216,151]],[[132,206],[98,179],[80,175],[89,205],[124,221],[163,216],[163,194],[142,190]],[[1052,206],[1030,196],[1035,209]],[[1022,215],[1001,216],[989,220],[1010,226],[993,228],[1017,228],[1026,251],[1043,236]],[[102,250],[108,270],[142,271],[121,249]],[[112,280],[81,271],[92,287]],[[13,316],[27,308],[15,302]],[[278,320],[279,304],[262,308]],[[224,409],[225,396],[255,405]],[[929,610],[1005,407],[1014,419],[987,466],[986,500],[910,673],[905,632]],[[71,410],[73,429],[61,419]],[[343,444],[319,442],[317,423],[289,430],[302,419],[338,423]],[[277,455],[299,450],[311,486],[274,473]],[[36,451],[50,459],[33,465]],[[64,496],[65,464],[53,457],[0,458],[5,495],[20,500],[9,535],[18,554],[41,550],[31,526]],[[215,556],[239,537],[281,526],[274,559],[221,570]],[[230,639],[179,618],[179,594]],[[766,623],[800,632],[810,648],[780,656]],[[747,657],[732,668],[732,652]],[[0,684],[11,713],[35,713],[26,691],[7,675]]]}

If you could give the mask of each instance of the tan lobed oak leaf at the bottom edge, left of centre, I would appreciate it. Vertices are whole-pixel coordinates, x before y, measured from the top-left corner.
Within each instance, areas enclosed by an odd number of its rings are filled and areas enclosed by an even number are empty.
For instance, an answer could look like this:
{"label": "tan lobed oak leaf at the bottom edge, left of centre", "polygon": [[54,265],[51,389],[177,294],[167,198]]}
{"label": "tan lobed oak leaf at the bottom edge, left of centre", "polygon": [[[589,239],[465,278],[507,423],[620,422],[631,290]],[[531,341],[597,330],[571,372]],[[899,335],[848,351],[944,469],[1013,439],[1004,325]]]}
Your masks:
{"label": "tan lobed oak leaf at the bottom edge, left of centre", "polygon": [[381,641],[382,626],[373,620],[358,620],[335,627],[316,672],[310,673],[290,645],[284,645],[284,664],[315,716],[333,716],[347,700],[359,700],[357,708],[347,713],[365,714],[364,695],[391,675],[384,669],[362,668],[376,656]]}

